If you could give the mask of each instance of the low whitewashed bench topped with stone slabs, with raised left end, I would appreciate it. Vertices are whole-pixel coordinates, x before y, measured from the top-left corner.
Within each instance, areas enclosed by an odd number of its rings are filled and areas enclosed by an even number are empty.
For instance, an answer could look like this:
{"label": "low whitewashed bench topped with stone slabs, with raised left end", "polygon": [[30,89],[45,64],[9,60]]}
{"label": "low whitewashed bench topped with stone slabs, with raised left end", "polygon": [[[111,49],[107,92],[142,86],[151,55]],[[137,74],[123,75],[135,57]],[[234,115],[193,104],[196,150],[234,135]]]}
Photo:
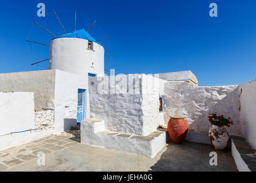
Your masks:
{"label": "low whitewashed bench topped with stone slabs, with raised left end", "polygon": [[83,144],[151,158],[156,156],[166,144],[165,132],[157,130],[148,136],[111,132],[104,128],[104,121],[95,121],[84,120],[81,122],[81,142]]}

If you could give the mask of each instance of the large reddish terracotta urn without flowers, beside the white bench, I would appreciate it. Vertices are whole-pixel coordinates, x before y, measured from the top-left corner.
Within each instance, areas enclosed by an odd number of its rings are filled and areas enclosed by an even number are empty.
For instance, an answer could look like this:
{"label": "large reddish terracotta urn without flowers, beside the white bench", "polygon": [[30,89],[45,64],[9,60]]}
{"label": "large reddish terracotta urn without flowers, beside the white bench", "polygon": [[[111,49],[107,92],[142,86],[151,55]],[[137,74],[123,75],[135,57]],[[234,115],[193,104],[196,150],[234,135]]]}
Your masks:
{"label": "large reddish terracotta urn without flowers, beside the white bench", "polygon": [[188,124],[184,117],[171,116],[168,121],[168,133],[174,144],[181,144],[188,133]]}

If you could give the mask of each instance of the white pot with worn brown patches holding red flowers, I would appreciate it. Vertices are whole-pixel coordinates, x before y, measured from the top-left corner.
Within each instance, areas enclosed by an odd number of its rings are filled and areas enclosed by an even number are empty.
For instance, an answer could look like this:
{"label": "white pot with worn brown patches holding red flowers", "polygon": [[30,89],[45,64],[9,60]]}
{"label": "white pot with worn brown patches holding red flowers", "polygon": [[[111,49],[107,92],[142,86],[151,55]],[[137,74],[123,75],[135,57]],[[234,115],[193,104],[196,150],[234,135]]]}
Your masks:
{"label": "white pot with worn brown patches holding red flowers", "polygon": [[215,149],[223,150],[226,148],[229,136],[225,127],[219,128],[219,126],[212,125],[209,130],[209,137]]}

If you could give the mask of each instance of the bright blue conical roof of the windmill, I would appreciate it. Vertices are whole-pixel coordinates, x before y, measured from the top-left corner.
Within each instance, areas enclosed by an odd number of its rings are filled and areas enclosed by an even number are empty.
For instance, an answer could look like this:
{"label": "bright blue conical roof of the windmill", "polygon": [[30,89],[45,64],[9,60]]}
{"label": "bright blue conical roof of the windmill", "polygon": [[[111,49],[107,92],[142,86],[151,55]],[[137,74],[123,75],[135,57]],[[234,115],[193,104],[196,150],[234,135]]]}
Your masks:
{"label": "bright blue conical roof of the windmill", "polygon": [[[93,37],[91,37],[90,34],[87,33],[84,29],[79,29],[76,31],[73,31],[72,33],[67,33],[63,35],[59,35],[54,39],[57,38],[80,38],[80,39],[87,39],[88,41],[96,42],[98,43]],[[98,43],[100,45],[100,43]]]}

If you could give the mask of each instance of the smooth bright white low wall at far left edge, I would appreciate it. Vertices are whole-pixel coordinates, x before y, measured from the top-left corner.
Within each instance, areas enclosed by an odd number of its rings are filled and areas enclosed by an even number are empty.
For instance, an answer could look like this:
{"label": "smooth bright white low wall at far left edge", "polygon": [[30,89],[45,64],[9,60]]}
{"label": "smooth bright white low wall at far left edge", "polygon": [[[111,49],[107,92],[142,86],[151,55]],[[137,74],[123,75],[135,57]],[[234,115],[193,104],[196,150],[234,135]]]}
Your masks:
{"label": "smooth bright white low wall at far left edge", "polygon": [[30,132],[14,133],[34,129],[34,93],[0,92],[0,150],[29,142]]}

